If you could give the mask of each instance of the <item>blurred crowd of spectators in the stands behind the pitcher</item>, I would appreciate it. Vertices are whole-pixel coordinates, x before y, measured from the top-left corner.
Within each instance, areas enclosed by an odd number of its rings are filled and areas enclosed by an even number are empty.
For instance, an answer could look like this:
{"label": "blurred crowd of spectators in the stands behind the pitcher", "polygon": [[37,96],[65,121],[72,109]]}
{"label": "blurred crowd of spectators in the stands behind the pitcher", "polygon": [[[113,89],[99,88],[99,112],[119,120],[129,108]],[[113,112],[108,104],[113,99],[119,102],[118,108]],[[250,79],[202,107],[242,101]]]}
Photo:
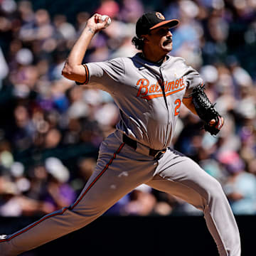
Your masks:
{"label": "blurred crowd of spectators in the stands behind the pitcher", "polygon": [[[93,11],[84,1],[73,22],[50,14],[50,4],[33,8],[36,2],[0,0],[1,216],[43,215],[75,201],[119,112],[107,93],[63,78],[65,58],[95,12],[109,15],[112,24],[93,38],[85,62],[134,55],[137,18],[153,10],[180,19],[171,55],[201,73],[225,117],[212,137],[182,107],[174,148],[220,181],[235,214],[256,213],[255,0],[102,0]],[[106,214],[201,213],[142,185]]]}

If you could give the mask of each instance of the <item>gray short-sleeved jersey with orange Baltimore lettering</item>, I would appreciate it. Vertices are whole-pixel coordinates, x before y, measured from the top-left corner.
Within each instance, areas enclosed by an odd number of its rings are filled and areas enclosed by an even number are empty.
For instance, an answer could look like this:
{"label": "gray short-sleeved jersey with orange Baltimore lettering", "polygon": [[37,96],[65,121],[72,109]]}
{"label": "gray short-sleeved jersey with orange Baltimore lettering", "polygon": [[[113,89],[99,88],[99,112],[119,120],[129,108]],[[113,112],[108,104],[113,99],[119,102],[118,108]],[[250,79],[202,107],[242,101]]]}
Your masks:
{"label": "gray short-sleeved jersey with orange Baltimore lettering", "polygon": [[109,92],[118,105],[117,129],[153,149],[171,145],[183,97],[203,82],[183,58],[172,56],[156,65],[137,53],[132,58],[87,63],[85,69],[87,84]]}

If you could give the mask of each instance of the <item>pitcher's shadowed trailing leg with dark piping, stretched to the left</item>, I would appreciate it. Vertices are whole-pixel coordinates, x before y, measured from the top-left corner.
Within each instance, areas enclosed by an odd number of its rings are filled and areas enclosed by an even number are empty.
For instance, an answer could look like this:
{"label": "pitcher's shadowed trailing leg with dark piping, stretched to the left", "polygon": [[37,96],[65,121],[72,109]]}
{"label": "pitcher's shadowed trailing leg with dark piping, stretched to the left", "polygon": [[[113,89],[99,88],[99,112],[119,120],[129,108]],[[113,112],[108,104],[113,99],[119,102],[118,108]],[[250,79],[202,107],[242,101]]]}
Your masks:
{"label": "pitcher's shadowed trailing leg with dark piping, stretched to the left", "polygon": [[[130,159],[133,154],[139,155],[140,164]],[[96,170],[78,200],[1,240],[0,255],[18,255],[82,228],[133,188],[149,181],[155,166],[149,156],[136,153],[117,139],[107,139],[101,146]]]}

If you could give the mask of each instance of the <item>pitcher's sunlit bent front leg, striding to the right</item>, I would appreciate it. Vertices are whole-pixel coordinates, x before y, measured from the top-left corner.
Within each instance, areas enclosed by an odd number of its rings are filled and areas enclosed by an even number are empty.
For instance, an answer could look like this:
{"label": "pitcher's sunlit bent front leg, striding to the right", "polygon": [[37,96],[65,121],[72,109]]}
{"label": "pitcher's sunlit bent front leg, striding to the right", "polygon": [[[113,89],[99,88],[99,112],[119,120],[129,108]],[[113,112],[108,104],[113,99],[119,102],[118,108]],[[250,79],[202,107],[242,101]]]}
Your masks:
{"label": "pitcher's sunlit bent front leg, striding to the right", "polygon": [[160,159],[157,175],[147,183],[203,210],[208,230],[221,256],[240,256],[240,235],[220,183],[198,164],[176,151]]}

